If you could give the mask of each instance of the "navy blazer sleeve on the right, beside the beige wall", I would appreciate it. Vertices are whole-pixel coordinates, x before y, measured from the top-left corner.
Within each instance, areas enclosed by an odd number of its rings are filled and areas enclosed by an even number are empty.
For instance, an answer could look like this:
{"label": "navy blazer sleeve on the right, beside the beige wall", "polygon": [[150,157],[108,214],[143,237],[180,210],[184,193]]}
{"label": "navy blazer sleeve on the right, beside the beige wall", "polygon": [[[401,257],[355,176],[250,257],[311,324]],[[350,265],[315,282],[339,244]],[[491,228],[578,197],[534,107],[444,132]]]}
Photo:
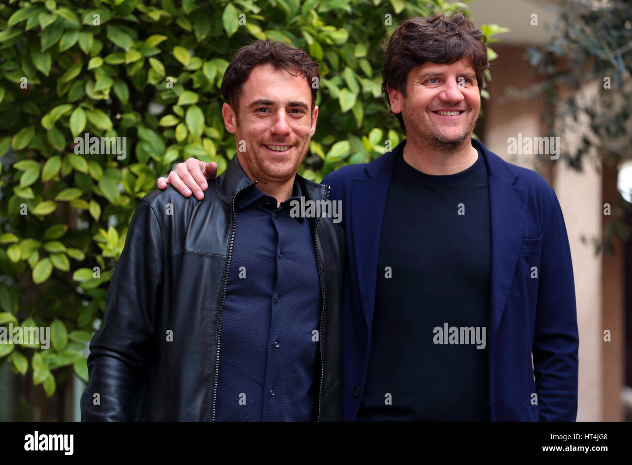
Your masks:
{"label": "navy blazer sleeve on the right, beside the beige wall", "polygon": [[540,421],[575,421],[579,335],[573,264],[562,209],[551,193],[542,226],[533,372]]}

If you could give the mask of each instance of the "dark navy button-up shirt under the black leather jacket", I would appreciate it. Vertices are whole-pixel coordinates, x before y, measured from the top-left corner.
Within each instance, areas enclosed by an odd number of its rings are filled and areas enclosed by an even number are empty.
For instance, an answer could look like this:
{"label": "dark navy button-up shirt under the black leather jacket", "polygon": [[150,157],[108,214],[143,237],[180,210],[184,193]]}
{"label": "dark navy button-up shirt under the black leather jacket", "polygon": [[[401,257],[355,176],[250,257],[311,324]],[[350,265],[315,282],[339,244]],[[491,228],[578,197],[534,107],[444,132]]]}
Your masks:
{"label": "dark navy button-up shirt under the black leather jacket", "polygon": [[[295,179],[292,199],[301,196]],[[320,283],[309,221],[256,185],[235,201],[217,421],[312,421]]]}

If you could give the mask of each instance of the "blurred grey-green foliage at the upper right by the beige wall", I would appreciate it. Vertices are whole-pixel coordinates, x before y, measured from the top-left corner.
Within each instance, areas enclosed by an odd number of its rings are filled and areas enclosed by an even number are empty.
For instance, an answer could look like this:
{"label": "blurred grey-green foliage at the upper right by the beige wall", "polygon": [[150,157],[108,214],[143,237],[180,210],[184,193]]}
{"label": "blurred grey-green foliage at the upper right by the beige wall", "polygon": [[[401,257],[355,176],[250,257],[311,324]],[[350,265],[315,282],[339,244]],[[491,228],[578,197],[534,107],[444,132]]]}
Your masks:
{"label": "blurred grey-green foliage at the upper right by the beige wall", "polygon": [[[573,143],[561,144],[561,159],[575,170],[621,166],[632,159],[632,4],[562,0],[550,8],[557,18],[549,25],[551,39],[528,49],[541,77],[531,97],[544,94],[551,109],[545,113],[548,135],[573,134]],[[615,240],[629,239],[626,209],[623,199],[612,205],[601,237],[592,238],[595,253],[613,253]]]}

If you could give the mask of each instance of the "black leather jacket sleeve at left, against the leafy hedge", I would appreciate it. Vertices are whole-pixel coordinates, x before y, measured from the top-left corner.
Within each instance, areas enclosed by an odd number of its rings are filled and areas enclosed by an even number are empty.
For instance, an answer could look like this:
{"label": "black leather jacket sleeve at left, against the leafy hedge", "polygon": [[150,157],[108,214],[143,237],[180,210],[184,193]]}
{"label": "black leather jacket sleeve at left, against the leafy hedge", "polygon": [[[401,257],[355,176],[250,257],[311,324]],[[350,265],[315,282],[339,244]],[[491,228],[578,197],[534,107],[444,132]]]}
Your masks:
{"label": "black leather jacket sleeve at left, against the leafy hedge", "polygon": [[103,324],[90,342],[82,421],[132,419],[136,381],[154,333],[163,249],[154,210],[141,200],[112,274]]}

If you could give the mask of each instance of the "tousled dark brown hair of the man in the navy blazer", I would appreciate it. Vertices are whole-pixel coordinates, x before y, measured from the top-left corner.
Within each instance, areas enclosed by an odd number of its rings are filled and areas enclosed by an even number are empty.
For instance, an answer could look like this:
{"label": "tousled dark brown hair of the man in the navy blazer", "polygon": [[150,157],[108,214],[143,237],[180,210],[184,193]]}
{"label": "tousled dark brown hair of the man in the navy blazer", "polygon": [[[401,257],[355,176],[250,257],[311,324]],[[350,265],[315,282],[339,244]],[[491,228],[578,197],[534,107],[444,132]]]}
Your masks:
{"label": "tousled dark brown hair of the man in the navy blazer", "polygon": [[[468,58],[477,78],[478,90],[483,89],[487,61],[487,37],[463,13],[453,16],[410,18],[402,22],[382,48],[386,49],[382,70],[382,92],[387,105],[386,87],[399,90],[406,97],[408,73],[424,63],[451,65]],[[401,113],[395,115],[405,132]]]}

